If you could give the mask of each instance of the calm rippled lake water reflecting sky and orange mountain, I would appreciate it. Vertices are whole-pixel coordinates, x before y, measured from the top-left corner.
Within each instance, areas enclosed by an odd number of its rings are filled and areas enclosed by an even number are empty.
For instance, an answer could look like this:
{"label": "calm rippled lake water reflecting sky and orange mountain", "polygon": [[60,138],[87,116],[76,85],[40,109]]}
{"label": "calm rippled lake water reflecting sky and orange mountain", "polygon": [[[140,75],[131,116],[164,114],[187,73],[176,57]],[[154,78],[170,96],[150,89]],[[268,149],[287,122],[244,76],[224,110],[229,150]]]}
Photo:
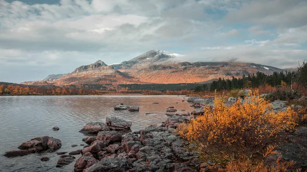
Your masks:
{"label": "calm rippled lake water reflecting sky and orange mountain", "polygon": [[[86,122],[105,121],[108,115],[132,122],[132,131],[165,120],[165,110],[174,106],[191,111],[183,96],[0,96],[0,171],[74,171],[74,162],[56,168],[59,155],[55,153],[31,154],[6,158],[6,151],[17,150],[20,143],[34,137],[51,136],[61,140],[58,152],[82,149],[72,144],[84,144],[85,137],[78,131]],[[152,104],[158,102],[159,104]],[[178,102],[178,104],[176,104]],[[114,111],[114,105],[123,103],[140,106],[140,112]],[[145,115],[145,113],[155,113]],[[57,126],[59,131],[53,131]],[[49,157],[47,162],[41,157]],[[79,156],[76,156],[76,159]]]}

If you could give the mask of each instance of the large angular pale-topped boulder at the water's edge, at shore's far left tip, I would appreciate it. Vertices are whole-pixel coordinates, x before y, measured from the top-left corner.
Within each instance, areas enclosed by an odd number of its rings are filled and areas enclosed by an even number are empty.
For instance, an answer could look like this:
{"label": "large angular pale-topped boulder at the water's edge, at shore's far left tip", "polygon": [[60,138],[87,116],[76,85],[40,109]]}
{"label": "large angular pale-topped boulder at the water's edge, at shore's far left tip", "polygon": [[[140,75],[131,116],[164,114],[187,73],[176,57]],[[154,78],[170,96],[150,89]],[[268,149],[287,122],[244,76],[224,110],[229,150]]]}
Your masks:
{"label": "large angular pale-topped boulder at the water's edge, at shore's far left tip", "polygon": [[115,116],[107,116],[105,119],[105,124],[111,129],[111,130],[130,130],[132,122],[127,122],[126,120],[120,119]]}

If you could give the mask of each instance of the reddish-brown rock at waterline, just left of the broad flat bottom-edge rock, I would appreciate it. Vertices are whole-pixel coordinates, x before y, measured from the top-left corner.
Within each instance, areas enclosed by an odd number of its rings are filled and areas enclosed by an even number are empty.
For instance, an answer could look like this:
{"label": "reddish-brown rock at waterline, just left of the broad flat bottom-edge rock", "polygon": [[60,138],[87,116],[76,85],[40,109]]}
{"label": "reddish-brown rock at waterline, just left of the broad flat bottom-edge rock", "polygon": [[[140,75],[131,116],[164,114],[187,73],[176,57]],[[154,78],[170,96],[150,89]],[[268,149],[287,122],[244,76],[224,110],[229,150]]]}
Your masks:
{"label": "reddish-brown rock at waterline, just left of the broad flat bottom-edge rock", "polygon": [[77,159],[74,167],[76,172],[82,172],[85,168],[89,168],[99,162],[91,153],[86,153]]}

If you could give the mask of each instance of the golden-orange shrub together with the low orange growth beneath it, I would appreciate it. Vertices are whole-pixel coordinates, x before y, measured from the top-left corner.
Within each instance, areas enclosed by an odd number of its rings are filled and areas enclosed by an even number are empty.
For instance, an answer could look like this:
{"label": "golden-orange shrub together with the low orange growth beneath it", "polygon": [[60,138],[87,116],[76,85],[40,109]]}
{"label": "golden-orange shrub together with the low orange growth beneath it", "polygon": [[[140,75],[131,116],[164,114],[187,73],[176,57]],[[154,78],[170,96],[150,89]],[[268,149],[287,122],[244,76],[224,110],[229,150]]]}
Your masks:
{"label": "golden-orange shrub together with the low orange growth beneath it", "polygon": [[[302,116],[293,109],[274,112],[269,101],[257,91],[231,106],[215,96],[214,108],[204,107],[204,115],[182,124],[177,132],[198,145],[204,160],[225,166],[218,171],[287,171],[294,162],[269,167],[264,159],[274,152],[280,133],[294,129]],[[305,115],[305,114],[304,114]],[[304,116],[303,115],[303,116]],[[304,116],[305,117],[305,116]]]}

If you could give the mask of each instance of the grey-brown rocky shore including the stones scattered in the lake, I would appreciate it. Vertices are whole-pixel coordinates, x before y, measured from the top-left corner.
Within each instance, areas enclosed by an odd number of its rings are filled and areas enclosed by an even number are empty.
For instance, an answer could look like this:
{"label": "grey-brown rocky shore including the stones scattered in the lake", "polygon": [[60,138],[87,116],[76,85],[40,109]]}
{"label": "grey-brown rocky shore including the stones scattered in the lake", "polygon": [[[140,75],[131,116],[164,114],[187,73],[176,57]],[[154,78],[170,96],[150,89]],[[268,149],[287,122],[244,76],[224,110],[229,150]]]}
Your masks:
{"label": "grey-brown rocky shore including the stones scattered in the lake", "polygon": [[[235,98],[230,97],[227,104],[232,104]],[[70,152],[56,152],[59,159],[56,167],[74,163],[74,171],[98,172],[98,171],[208,171],[213,162],[202,162],[199,159],[199,152],[196,145],[183,140],[176,132],[176,128],[182,122],[188,122],[194,115],[204,113],[203,106],[214,106],[212,97],[203,99],[201,97],[189,97],[194,110],[186,112],[177,110],[174,107],[166,109],[168,116],[161,124],[151,125],[143,130],[131,132],[131,122],[117,116],[107,116],[105,122],[89,122],[80,130],[81,133],[92,136],[82,139],[85,146],[81,150]],[[272,103],[276,110],[284,110],[286,104],[281,101]],[[299,107],[297,107],[299,108]],[[115,110],[139,110],[139,107],[116,105]],[[57,131],[59,128],[54,127]],[[301,150],[307,148],[307,128],[300,128],[297,131],[285,136],[288,142],[278,147],[284,160],[296,160],[299,167],[307,166],[307,156],[300,158],[290,155],[290,152],[300,154]],[[83,145],[83,144],[81,144]],[[76,145],[72,145],[74,148]],[[32,153],[49,152],[61,148],[59,139],[43,136],[26,141],[18,147],[19,150],[8,151],[7,157],[24,156]],[[74,155],[81,154],[76,158]],[[266,160],[266,163],[274,163],[280,155],[274,155]],[[286,158],[286,159],[285,159]],[[41,161],[48,161],[48,157],[41,158]],[[209,165],[209,166],[208,166]]]}

